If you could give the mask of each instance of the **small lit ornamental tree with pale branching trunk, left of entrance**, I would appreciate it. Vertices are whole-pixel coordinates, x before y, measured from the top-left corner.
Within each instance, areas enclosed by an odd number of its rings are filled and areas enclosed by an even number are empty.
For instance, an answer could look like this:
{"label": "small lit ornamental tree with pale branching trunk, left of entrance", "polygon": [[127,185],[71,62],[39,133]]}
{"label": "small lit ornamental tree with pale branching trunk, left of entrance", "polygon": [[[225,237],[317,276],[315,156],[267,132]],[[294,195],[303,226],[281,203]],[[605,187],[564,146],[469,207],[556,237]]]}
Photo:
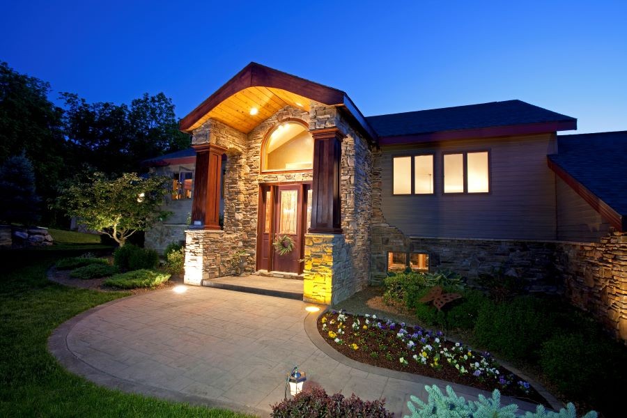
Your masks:
{"label": "small lit ornamental tree with pale branching trunk, left of entrance", "polygon": [[109,179],[94,173],[91,180],[61,190],[57,206],[80,219],[89,229],[101,231],[120,247],[136,231],[146,231],[171,212],[162,210],[168,193],[167,178],[141,178],[123,173]]}

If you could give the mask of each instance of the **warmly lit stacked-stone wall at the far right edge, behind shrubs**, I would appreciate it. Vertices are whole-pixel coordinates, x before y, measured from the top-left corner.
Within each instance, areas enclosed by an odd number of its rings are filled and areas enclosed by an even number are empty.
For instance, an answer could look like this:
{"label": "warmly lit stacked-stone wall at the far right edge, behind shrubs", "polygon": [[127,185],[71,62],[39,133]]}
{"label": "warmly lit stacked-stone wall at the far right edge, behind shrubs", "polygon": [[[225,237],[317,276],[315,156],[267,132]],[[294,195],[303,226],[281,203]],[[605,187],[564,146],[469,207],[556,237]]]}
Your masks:
{"label": "warmly lit stacked-stone wall at the far right edge, behind shrubs", "polygon": [[627,342],[627,233],[557,246],[566,298]]}

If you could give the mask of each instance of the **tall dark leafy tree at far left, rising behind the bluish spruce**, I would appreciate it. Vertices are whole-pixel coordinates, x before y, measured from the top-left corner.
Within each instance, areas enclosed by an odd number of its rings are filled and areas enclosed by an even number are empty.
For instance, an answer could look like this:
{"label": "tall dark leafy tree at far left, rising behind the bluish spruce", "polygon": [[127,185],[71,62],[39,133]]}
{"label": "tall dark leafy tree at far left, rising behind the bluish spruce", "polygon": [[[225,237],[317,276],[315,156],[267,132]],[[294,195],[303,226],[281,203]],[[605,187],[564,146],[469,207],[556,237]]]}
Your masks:
{"label": "tall dark leafy tree at far left, rising behind the bluish spruce", "polygon": [[63,109],[48,100],[49,91],[48,83],[0,62],[0,164],[11,155],[25,153],[44,199],[56,196],[59,181],[69,172]]}

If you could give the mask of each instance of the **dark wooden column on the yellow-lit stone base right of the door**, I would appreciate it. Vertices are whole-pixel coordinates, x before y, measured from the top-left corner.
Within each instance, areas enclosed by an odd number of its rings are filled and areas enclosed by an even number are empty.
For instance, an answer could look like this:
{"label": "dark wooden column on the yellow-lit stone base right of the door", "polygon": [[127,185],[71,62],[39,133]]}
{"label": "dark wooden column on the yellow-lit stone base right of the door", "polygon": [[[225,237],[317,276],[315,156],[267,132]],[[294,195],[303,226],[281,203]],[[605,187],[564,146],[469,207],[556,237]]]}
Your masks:
{"label": "dark wooden column on the yellow-lit stone base right of the door", "polygon": [[314,137],[314,181],[309,232],[342,233],[339,187],[344,135],[336,127],[310,132]]}

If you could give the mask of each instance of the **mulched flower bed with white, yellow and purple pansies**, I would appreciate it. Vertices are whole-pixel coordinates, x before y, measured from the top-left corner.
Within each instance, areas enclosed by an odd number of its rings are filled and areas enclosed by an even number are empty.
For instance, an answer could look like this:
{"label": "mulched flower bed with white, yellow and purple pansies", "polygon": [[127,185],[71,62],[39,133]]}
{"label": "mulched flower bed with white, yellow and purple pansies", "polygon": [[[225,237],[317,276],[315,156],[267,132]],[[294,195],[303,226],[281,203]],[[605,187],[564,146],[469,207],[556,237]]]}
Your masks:
{"label": "mulched flower bed with white, yellow and purple pansies", "polygon": [[320,335],[358,362],[477,387],[525,401],[547,401],[528,382],[500,366],[489,353],[447,341],[442,332],[376,316],[330,311],[318,319]]}

